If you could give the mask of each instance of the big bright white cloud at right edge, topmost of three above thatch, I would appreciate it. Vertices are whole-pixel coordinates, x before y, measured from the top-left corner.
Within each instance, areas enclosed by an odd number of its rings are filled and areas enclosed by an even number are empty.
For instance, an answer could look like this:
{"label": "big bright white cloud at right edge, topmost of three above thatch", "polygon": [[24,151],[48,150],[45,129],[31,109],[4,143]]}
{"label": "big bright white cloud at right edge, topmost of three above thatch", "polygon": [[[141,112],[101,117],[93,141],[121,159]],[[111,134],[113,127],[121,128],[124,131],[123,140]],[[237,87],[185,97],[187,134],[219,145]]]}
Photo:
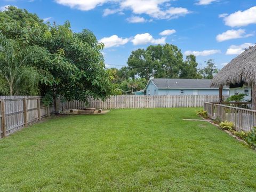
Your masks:
{"label": "big bright white cloud at right edge, topmost of three above thatch", "polygon": [[256,6],[245,11],[237,11],[224,18],[225,24],[230,27],[241,27],[256,23]]}

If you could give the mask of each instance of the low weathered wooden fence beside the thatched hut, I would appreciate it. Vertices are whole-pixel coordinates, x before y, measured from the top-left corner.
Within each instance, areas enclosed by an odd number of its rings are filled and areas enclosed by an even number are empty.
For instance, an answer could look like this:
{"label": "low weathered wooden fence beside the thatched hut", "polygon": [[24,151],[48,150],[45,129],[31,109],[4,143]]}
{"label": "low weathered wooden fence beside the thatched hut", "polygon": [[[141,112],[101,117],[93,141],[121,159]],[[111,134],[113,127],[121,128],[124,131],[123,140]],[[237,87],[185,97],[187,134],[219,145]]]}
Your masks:
{"label": "low weathered wooden fence beside the thatched hut", "polygon": [[256,110],[205,102],[204,110],[210,118],[234,123],[237,131],[251,131],[256,126]]}

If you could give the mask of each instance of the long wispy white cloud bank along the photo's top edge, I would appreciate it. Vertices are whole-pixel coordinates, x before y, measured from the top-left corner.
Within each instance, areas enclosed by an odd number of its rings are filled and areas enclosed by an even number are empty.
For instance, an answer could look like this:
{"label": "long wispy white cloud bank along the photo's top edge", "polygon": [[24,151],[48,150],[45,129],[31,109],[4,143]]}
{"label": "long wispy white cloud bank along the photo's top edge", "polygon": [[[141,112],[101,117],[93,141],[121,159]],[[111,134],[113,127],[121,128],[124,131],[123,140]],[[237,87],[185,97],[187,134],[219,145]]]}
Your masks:
{"label": "long wispy white cloud bank along the photo's top edge", "polygon": [[[55,0],[61,5],[66,5],[74,9],[82,11],[89,11],[96,6],[105,3],[118,4],[118,9],[104,10],[103,15],[114,14],[123,10],[132,10],[135,14],[147,14],[156,19],[173,19],[190,13],[183,7],[169,7],[165,6],[170,0]],[[165,9],[163,9],[165,7]]]}

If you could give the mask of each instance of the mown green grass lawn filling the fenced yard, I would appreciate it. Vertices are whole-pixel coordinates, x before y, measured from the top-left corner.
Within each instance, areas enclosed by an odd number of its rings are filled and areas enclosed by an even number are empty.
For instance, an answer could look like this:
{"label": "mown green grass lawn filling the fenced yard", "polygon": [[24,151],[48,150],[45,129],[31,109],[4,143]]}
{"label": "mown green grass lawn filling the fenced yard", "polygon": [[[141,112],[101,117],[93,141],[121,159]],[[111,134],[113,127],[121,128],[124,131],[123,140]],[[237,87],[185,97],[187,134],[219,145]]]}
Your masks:
{"label": "mown green grass lawn filling the fenced yard", "polygon": [[256,191],[256,153],[195,108],[63,116],[0,140],[0,191]]}

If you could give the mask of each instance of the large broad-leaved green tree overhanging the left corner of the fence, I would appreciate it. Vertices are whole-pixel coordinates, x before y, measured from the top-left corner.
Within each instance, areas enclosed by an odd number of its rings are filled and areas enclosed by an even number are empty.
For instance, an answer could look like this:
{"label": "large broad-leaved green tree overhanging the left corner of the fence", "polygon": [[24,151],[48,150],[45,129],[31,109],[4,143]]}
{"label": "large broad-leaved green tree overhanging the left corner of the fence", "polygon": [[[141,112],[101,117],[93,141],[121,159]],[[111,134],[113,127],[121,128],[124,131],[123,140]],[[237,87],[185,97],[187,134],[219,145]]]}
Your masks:
{"label": "large broad-leaved green tree overhanging the left corner of the fence", "polygon": [[[17,49],[33,53],[23,54],[17,63],[23,66],[21,60],[26,58],[26,66],[38,71],[40,94],[86,100],[89,96],[105,99],[113,91],[100,52],[103,44],[90,30],[74,33],[68,21],[64,25],[45,24],[36,14],[13,6],[0,12],[0,28],[1,35]],[[2,54],[5,51],[1,49]],[[9,65],[6,60],[0,62],[1,66]]]}

